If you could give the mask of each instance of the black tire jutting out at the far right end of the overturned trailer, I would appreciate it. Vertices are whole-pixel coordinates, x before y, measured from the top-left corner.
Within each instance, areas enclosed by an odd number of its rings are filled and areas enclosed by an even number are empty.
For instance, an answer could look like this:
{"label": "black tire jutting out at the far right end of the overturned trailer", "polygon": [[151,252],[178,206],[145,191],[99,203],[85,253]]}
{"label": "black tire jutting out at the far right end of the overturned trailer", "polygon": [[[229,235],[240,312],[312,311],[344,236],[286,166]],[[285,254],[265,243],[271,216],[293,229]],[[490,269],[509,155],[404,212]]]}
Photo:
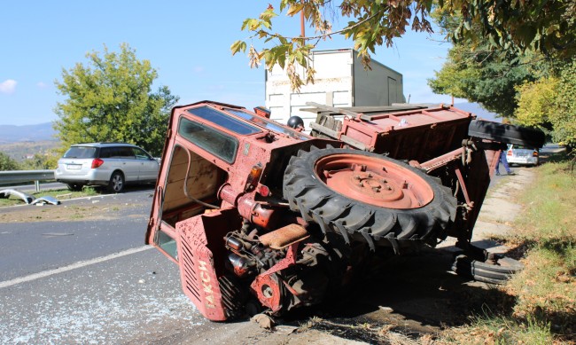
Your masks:
{"label": "black tire jutting out at the far right end of the overturned trailer", "polygon": [[540,129],[482,120],[470,122],[468,135],[499,141],[503,144],[524,145],[530,148],[541,148],[546,143],[546,136]]}

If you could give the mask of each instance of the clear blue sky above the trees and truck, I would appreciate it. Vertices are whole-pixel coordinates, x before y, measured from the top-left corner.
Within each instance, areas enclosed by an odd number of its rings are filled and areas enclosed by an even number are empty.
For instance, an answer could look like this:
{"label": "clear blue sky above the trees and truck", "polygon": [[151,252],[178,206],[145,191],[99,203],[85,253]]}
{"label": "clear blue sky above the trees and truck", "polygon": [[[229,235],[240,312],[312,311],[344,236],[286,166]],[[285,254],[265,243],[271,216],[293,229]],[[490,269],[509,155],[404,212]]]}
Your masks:
{"label": "clear blue sky above the trees and truck", "polygon": [[[264,105],[264,69],[251,69],[245,55],[231,56],[230,44],[247,38],[242,21],[272,1],[10,1],[2,6],[0,39],[0,125],[58,119],[53,109],[64,98],[54,81],[62,69],[86,64],[86,53],[119,51],[121,43],[148,59],[158,73],[154,90],[167,85],[180,104],[211,99],[238,106]],[[281,15],[274,30],[299,35],[300,17]],[[346,20],[334,23],[334,30]],[[307,29],[312,34],[312,29]],[[448,43],[440,35],[409,33],[393,48],[379,47],[372,59],[404,76],[411,103],[449,103],[432,94],[426,79],[440,70]],[[259,42],[254,42],[258,48]],[[319,49],[350,48],[341,37]]]}

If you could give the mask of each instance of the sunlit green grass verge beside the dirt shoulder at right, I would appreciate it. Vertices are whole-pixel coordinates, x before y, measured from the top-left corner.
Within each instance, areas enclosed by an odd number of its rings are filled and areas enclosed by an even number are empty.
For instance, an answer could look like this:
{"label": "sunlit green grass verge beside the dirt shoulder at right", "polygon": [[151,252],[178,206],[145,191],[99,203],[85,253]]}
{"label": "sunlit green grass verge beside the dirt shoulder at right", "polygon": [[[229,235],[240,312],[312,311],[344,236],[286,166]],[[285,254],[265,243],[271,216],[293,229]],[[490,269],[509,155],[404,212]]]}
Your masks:
{"label": "sunlit green grass verge beside the dirt shoulder at right", "polygon": [[[475,316],[448,329],[439,343],[550,344],[576,341],[576,173],[568,160],[535,169],[518,200],[524,205],[503,241],[523,252],[525,270],[501,289],[514,297],[509,312]],[[487,305],[487,309],[491,306]],[[497,310],[493,305],[493,310]]]}

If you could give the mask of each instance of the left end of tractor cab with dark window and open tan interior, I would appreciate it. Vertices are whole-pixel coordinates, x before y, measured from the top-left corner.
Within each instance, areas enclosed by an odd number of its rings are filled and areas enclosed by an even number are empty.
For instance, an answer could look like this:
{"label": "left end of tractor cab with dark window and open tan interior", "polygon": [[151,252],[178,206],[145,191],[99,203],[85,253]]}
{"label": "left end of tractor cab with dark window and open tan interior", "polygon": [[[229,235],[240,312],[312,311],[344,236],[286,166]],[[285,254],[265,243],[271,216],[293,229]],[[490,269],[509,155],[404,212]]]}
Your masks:
{"label": "left end of tractor cab with dark window and open tan interior", "polygon": [[214,154],[222,165],[233,161],[236,153],[237,139],[187,117],[180,118],[162,159],[147,244],[178,261],[176,223],[218,208],[218,191],[228,179],[210,155]]}

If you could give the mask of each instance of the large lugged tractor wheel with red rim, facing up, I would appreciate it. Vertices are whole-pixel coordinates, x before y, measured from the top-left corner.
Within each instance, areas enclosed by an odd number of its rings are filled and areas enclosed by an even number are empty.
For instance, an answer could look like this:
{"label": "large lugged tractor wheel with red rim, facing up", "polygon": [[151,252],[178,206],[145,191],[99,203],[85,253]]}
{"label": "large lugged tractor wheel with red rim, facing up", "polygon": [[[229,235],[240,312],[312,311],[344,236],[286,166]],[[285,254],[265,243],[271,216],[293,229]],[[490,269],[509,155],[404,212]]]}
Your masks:
{"label": "large lugged tractor wheel with red rim, facing up", "polygon": [[451,190],[424,172],[376,153],[312,147],[293,156],[284,198],[324,232],[427,239],[455,219]]}

